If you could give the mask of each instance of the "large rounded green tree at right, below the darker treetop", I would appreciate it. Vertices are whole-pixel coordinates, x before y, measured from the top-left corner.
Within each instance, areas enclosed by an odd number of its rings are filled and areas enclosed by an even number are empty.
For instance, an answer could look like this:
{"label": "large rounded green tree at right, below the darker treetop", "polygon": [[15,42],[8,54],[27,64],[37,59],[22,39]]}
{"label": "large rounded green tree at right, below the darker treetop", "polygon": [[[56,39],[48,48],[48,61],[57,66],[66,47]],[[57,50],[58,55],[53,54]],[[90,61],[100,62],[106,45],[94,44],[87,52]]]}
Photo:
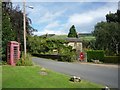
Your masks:
{"label": "large rounded green tree at right, below the darker treetop", "polygon": [[[96,36],[96,46],[98,49],[111,50],[114,53],[116,45],[120,42],[120,24],[101,22],[95,26],[94,35]],[[119,47],[120,49],[120,47]],[[118,53],[117,53],[118,54]]]}

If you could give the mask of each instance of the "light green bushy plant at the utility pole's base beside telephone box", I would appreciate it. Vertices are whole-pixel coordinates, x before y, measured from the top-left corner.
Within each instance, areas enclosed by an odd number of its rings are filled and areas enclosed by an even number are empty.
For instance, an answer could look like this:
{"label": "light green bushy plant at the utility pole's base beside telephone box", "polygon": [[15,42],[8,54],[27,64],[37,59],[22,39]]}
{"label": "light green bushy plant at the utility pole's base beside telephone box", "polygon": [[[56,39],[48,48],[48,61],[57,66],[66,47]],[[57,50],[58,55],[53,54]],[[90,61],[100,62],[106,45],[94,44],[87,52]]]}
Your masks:
{"label": "light green bushy plant at the utility pole's base beside telephone box", "polygon": [[24,53],[22,53],[22,56],[20,60],[17,61],[17,66],[32,66],[32,58],[30,54],[26,54],[26,57],[24,56]]}

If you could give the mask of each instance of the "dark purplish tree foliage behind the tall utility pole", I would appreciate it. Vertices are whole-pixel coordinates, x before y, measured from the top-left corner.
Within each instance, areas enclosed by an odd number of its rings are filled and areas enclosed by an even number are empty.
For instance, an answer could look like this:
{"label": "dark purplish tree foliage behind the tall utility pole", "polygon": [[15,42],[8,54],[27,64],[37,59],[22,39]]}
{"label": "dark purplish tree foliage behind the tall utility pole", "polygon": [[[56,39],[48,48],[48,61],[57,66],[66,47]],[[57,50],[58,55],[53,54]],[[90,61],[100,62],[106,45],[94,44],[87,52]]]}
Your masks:
{"label": "dark purplish tree foliage behind the tall utility pole", "polygon": [[[23,45],[23,12],[19,6],[13,8],[10,13],[11,24],[13,29],[16,31],[17,41]],[[32,35],[33,31],[36,31],[31,27],[31,19],[26,15],[26,34]],[[23,49],[23,48],[22,48]]]}

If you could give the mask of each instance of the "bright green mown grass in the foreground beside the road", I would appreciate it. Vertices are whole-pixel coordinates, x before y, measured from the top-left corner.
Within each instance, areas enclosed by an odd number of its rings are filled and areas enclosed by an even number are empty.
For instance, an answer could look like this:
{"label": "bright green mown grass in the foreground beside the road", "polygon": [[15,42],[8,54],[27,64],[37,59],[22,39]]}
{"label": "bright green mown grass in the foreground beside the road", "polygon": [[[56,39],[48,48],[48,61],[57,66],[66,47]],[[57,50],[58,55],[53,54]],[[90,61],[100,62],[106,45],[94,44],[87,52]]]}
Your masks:
{"label": "bright green mown grass in the foreground beside the road", "polygon": [[2,88],[102,88],[92,82],[73,83],[70,76],[44,70],[47,75],[41,75],[39,66],[3,66]]}

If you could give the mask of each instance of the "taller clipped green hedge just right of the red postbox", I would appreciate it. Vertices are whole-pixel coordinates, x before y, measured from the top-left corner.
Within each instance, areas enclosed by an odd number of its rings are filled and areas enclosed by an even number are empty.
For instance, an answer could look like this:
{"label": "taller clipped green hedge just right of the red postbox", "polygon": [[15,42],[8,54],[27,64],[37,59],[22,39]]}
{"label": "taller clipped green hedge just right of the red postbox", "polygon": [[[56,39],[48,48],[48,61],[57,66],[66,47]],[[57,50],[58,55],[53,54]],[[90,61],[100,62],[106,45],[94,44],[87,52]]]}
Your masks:
{"label": "taller clipped green hedge just right of the red postbox", "polygon": [[104,60],[104,51],[103,50],[90,50],[87,51],[87,60],[88,62],[91,62],[91,60]]}

